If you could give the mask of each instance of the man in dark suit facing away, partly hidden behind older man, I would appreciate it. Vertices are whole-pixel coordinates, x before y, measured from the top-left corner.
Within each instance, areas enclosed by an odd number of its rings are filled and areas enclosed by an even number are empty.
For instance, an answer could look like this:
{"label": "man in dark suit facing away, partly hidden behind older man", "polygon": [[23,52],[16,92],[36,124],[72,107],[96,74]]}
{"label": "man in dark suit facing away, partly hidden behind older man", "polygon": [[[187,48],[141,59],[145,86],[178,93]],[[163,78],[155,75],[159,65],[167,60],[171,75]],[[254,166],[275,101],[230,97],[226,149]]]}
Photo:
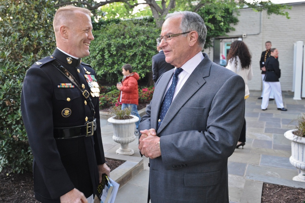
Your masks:
{"label": "man in dark suit facing away, partly hidden behind older man", "polygon": [[166,71],[173,69],[174,66],[165,61],[165,55],[157,44],[157,53],[152,57],[152,80],[156,83],[159,77]]}

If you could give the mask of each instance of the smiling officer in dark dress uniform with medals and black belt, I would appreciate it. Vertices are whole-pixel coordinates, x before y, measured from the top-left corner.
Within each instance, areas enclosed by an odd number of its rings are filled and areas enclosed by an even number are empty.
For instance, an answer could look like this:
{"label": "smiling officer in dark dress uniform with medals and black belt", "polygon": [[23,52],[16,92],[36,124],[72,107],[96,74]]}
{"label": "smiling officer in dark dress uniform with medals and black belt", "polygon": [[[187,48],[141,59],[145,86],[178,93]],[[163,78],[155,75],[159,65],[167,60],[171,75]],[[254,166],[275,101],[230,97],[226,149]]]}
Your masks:
{"label": "smiling officer in dark dress uniform with medals and black belt", "polygon": [[[88,9],[57,10],[56,50],[28,69],[21,95],[22,118],[34,155],[35,198],[41,202],[93,202],[105,164],[99,88],[89,55]],[[70,80],[70,79],[72,80]]]}

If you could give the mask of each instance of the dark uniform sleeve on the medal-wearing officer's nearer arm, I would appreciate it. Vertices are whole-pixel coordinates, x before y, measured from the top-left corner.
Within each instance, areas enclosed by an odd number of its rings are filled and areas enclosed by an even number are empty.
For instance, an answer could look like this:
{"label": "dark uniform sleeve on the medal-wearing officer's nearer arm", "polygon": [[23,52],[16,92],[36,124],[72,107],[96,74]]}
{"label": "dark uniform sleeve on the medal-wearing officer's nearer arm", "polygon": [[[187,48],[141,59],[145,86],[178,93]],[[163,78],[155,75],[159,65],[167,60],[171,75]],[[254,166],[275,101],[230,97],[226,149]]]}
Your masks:
{"label": "dark uniform sleeve on the medal-wearing officer's nearer arm", "polygon": [[74,185],[61,162],[53,137],[51,84],[42,69],[31,67],[23,82],[21,110],[35,164],[51,197],[59,198]]}

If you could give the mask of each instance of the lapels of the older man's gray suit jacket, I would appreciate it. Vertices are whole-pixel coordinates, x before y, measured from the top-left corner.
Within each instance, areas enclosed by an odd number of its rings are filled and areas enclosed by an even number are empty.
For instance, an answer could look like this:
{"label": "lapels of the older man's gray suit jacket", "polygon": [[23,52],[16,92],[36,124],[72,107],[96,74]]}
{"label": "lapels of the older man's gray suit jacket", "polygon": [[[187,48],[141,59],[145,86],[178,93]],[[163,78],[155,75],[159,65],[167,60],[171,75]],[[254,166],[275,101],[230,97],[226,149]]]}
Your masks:
{"label": "lapels of the older man's gray suit jacket", "polygon": [[[204,59],[199,63],[199,65],[194,69],[188,80],[186,80],[185,84],[173,100],[173,102],[170,105],[170,108],[168,109],[163,122],[158,130],[158,133],[160,133],[165,126],[167,126],[168,123],[174,118],[174,116],[178,113],[178,111],[181,109],[181,107],[191,98],[200,87],[205,84],[206,80],[204,80],[204,77],[208,77],[210,75],[210,67],[212,65],[212,61],[209,59],[209,57],[206,54],[204,55]],[[167,82],[168,84],[168,82]],[[166,89],[165,85],[165,89]],[[165,90],[163,91],[164,94]],[[158,108],[160,109],[163,94],[161,95],[161,101],[158,105]],[[159,114],[159,109],[157,110]],[[158,117],[158,115],[157,115]],[[151,120],[152,122],[152,120]]]}

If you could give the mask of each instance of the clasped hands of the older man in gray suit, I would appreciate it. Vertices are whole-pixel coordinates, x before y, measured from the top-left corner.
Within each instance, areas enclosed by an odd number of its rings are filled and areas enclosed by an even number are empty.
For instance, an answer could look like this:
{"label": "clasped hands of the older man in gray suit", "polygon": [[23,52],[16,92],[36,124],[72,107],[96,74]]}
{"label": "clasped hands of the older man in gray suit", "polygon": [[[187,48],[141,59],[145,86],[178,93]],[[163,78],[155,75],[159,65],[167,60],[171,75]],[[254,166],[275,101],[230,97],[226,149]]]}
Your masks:
{"label": "clasped hands of the older man in gray suit", "polygon": [[141,154],[145,157],[151,159],[161,156],[161,151],[159,148],[160,137],[156,136],[156,130],[151,128],[149,130],[140,130],[142,133],[139,139],[139,150]]}

